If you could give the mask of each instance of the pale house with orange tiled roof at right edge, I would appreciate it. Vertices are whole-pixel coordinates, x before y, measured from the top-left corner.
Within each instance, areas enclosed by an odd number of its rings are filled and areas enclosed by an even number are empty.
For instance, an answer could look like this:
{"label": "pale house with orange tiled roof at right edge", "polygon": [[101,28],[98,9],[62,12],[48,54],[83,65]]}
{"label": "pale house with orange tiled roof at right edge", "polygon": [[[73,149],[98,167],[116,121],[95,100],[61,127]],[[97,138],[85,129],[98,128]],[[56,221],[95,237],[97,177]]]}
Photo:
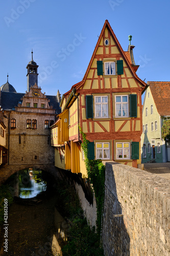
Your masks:
{"label": "pale house with orange tiled roof at right edge", "polygon": [[169,98],[170,82],[148,82],[142,109],[142,163],[170,161],[170,141],[161,136],[163,122],[170,119]]}

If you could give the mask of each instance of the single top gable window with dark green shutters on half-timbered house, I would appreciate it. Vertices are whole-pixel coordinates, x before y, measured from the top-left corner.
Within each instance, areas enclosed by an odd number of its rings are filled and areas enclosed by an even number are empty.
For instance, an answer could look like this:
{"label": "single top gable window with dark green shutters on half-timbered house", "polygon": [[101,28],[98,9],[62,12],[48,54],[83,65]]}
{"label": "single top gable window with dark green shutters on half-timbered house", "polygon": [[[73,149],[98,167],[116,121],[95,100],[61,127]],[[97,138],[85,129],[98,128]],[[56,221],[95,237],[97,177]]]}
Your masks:
{"label": "single top gable window with dark green shutters on half-timbered house", "polygon": [[124,66],[123,60],[116,59],[104,59],[97,61],[98,76],[114,76],[114,75],[123,75]]}

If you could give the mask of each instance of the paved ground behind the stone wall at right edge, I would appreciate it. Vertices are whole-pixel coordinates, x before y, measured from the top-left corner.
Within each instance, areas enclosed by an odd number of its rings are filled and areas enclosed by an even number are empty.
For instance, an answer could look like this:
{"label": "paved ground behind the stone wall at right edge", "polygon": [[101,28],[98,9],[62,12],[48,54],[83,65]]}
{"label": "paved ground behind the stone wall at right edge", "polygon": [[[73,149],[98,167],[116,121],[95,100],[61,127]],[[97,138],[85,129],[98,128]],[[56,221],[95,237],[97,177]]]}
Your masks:
{"label": "paved ground behind the stone wall at right edge", "polygon": [[170,180],[170,162],[167,163],[144,163],[144,170]]}

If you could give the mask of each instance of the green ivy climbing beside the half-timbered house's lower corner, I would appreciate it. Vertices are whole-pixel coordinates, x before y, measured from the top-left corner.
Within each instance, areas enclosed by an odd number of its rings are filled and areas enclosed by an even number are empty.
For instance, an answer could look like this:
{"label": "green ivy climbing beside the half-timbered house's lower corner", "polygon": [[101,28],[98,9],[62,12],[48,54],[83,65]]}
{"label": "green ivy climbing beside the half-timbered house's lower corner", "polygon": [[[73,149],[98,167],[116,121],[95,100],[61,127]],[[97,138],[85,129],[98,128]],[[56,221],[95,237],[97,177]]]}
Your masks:
{"label": "green ivy climbing beside the half-timbered house's lower corner", "polygon": [[105,166],[102,161],[99,160],[89,160],[88,159],[88,143],[89,140],[86,139],[86,135],[83,133],[82,128],[79,126],[80,133],[83,137],[82,148],[85,158],[85,166],[87,170],[87,175],[92,189],[95,194],[96,208],[97,208],[97,232],[100,235],[101,225],[102,225],[102,212],[104,206],[104,185],[105,185]]}

